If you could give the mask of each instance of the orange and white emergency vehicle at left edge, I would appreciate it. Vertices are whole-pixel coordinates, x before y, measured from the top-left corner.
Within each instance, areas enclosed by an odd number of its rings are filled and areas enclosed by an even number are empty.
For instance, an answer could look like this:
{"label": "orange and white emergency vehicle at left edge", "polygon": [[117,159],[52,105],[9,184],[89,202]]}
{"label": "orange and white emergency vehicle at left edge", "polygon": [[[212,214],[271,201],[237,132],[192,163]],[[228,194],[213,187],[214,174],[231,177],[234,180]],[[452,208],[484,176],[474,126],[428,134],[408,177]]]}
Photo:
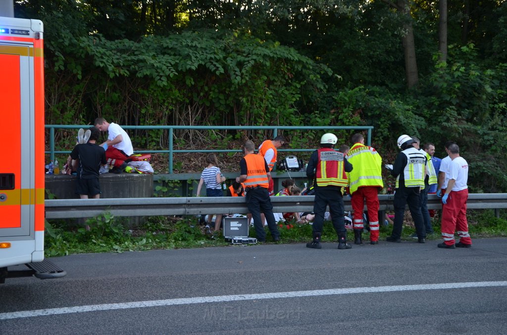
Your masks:
{"label": "orange and white emergency vehicle at left edge", "polygon": [[0,283],[65,275],[44,259],[43,32],[39,20],[0,17]]}

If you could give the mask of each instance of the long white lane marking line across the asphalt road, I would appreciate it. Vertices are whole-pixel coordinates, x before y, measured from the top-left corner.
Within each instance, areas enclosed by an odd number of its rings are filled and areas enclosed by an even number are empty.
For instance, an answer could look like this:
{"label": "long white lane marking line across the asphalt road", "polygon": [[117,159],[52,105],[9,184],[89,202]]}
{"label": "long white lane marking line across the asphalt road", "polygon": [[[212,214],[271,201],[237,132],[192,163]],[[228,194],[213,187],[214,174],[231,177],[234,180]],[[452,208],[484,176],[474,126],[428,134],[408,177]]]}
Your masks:
{"label": "long white lane marking line across the asphalt road", "polygon": [[413,291],[413,290],[426,290],[426,289],[451,289],[451,288],[491,287],[491,286],[507,286],[507,281],[477,281],[477,282],[463,282],[463,283],[397,285],[397,286],[378,286],[378,287],[351,287],[351,288],[316,289],[316,290],[308,290],[308,291],[272,292],[272,293],[260,293],[260,294],[251,294],[251,295],[233,295],[233,296],[214,296],[214,297],[196,297],[196,298],[180,298],[180,299],[166,299],[166,300],[136,301],[136,302],[130,302],[130,303],[87,305],[87,306],[50,308],[50,309],[38,309],[38,310],[32,310],[32,311],[18,311],[18,312],[10,312],[10,313],[0,313],[0,320],[27,318],[27,317],[33,317],[33,316],[82,313],[82,312],[94,312],[94,311],[107,311],[107,310],[115,310],[115,309],[219,303],[219,302],[241,301],[241,300],[283,299],[283,298],[298,298],[298,297],[347,295],[347,294],[357,294],[357,293],[377,293],[377,292],[396,292],[396,291]]}

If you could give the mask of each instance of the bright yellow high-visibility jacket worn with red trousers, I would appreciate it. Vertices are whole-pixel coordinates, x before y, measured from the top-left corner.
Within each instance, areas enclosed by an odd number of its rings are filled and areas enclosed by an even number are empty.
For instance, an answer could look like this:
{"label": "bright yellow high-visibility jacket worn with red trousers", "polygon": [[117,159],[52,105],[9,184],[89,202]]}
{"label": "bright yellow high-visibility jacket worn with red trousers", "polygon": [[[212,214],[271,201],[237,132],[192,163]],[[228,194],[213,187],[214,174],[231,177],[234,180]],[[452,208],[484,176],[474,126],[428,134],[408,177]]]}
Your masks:
{"label": "bright yellow high-visibility jacket worn with red trousers", "polygon": [[369,146],[356,143],[350,148],[346,156],[354,170],[347,172],[350,194],[361,186],[384,187],[382,182],[382,158],[378,152]]}

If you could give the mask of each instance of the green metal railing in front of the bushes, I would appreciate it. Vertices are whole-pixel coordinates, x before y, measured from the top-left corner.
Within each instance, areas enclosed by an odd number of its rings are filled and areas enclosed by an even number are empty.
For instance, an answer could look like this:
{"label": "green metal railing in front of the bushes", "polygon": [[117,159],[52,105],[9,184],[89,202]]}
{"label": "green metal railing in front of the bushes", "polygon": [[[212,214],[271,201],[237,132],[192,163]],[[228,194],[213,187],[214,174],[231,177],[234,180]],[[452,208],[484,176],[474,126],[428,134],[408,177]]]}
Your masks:
{"label": "green metal railing in front of the bushes", "polygon": [[[46,129],[49,129],[49,151],[46,151],[47,154],[50,155],[50,159],[55,159],[55,154],[68,154],[70,151],[56,151],[55,150],[55,129],[80,129],[80,128],[89,128],[90,125],[64,125],[64,124],[46,124]],[[157,130],[163,129],[168,130],[168,149],[167,150],[140,150],[136,151],[137,153],[167,153],[169,154],[169,173],[173,173],[173,155],[178,152],[241,152],[241,150],[216,150],[216,149],[198,149],[198,150],[174,150],[173,144],[173,131],[176,129],[195,129],[195,130],[272,130],[273,138],[278,135],[278,130],[367,130],[367,145],[371,144],[372,140],[372,130],[373,126],[371,125],[357,125],[357,126],[292,126],[292,125],[248,125],[248,126],[231,126],[231,125],[122,125],[123,129],[134,129],[134,130]],[[280,149],[278,151],[289,151],[289,152],[311,152],[313,149]]]}

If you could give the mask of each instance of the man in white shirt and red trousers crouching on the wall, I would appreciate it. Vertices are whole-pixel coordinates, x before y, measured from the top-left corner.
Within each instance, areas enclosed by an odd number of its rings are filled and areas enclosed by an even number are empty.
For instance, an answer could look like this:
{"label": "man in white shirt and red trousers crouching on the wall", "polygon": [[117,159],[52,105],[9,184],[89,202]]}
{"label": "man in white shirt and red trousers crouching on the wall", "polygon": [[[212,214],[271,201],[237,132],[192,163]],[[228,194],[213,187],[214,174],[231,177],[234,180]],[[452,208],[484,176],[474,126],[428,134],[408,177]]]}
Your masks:
{"label": "man in white shirt and red trousers crouching on the wall", "polygon": [[102,117],[97,117],[94,124],[101,132],[107,132],[107,141],[100,146],[105,149],[107,163],[114,166],[112,172],[132,172],[133,168],[127,162],[134,149],[128,134],[118,124],[109,123]]}

